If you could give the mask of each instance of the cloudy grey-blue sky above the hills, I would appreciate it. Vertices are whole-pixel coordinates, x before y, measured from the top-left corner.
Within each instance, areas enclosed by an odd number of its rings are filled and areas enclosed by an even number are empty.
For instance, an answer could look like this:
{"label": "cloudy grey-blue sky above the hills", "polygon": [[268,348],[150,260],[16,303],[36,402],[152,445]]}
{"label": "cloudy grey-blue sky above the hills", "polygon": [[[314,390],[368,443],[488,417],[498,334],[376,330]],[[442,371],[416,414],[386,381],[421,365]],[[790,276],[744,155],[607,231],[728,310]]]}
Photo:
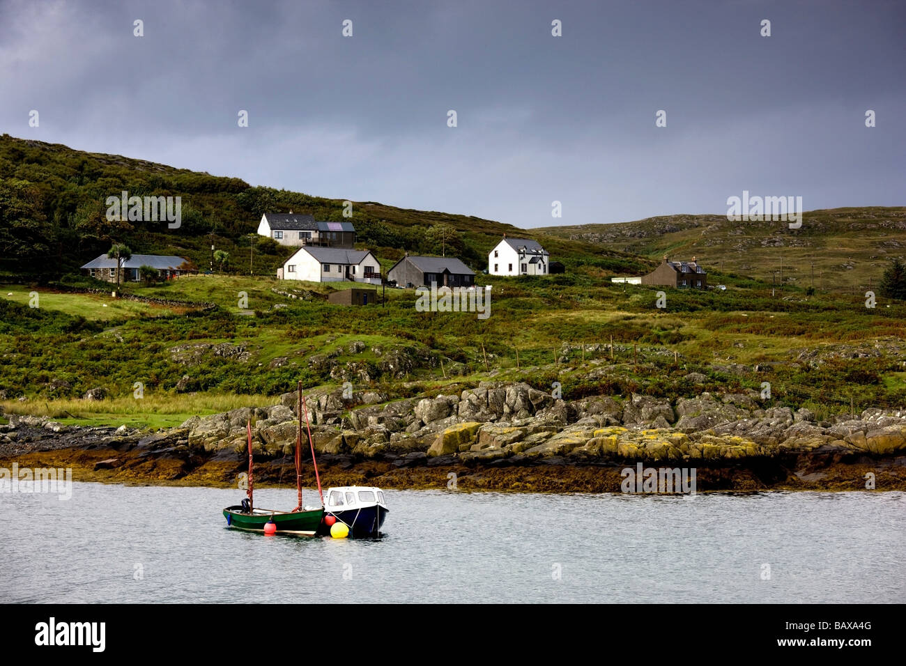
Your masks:
{"label": "cloudy grey-blue sky above the hills", "polygon": [[904,28],[901,0],[0,0],[0,132],[524,228],[903,206]]}

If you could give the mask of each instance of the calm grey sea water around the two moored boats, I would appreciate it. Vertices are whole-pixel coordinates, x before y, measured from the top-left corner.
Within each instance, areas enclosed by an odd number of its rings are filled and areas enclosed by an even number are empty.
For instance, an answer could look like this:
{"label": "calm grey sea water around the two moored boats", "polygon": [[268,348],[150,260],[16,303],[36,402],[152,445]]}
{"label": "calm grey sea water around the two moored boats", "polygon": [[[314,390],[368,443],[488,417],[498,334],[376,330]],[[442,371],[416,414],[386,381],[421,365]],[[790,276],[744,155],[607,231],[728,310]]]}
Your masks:
{"label": "calm grey sea water around the two moored boats", "polygon": [[0,602],[906,601],[902,492],[386,494],[374,540],[227,530],[236,489],[0,494]]}

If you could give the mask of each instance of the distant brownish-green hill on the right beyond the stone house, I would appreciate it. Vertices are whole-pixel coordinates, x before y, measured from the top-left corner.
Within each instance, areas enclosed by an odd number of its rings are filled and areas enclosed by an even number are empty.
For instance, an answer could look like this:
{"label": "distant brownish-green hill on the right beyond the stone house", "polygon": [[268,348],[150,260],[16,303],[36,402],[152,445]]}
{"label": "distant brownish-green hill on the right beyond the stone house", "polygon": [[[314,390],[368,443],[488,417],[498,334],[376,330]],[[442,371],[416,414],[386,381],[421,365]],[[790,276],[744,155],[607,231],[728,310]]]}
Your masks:
{"label": "distant brownish-green hill on the right beyond the stone house", "polygon": [[[539,234],[593,243],[658,260],[698,257],[709,270],[819,291],[864,293],[906,256],[906,208],[805,212],[799,229],[783,221],[731,222],[726,215],[671,215],[635,222],[544,227]],[[782,270],[782,274],[781,274]],[[776,274],[774,273],[776,271]],[[713,280],[711,281],[713,282]]]}

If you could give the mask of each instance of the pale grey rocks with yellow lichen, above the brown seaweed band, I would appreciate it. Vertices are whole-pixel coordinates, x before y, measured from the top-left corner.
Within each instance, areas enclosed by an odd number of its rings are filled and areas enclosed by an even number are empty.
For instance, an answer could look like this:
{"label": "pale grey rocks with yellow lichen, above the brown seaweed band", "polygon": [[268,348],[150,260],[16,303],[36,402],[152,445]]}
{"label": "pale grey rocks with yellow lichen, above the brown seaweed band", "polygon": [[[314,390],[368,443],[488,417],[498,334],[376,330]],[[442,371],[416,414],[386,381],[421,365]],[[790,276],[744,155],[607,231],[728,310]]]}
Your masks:
{"label": "pale grey rocks with yellow lichen, above the brown seaweed band", "polygon": [[[906,412],[865,410],[855,418],[819,422],[809,410],[764,409],[754,391],[704,391],[675,405],[638,393],[626,400],[563,401],[525,383],[501,382],[458,395],[389,402],[376,391],[348,395],[342,390],[306,394],[319,454],[414,465],[445,457],[469,464],[546,459],[597,464],[906,452]],[[288,455],[296,437],[296,400],[295,393],[287,393],[265,410],[193,417],[182,425],[188,448],[241,456],[251,420],[255,454]]]}

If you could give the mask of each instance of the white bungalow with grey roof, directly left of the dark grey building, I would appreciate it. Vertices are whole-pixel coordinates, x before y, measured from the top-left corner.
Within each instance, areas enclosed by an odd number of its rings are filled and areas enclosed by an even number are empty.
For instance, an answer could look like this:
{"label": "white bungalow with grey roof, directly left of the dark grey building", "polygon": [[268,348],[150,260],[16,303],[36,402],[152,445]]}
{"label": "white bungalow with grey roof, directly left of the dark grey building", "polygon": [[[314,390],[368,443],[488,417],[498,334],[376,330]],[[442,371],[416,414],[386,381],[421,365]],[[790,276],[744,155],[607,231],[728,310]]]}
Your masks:
{"label": "white bungalow with grey roof, directly left of the dark grey building", "polygon": [[380,285],[381,264],[371,250],[304,246],[277,270],[277,279]]}

